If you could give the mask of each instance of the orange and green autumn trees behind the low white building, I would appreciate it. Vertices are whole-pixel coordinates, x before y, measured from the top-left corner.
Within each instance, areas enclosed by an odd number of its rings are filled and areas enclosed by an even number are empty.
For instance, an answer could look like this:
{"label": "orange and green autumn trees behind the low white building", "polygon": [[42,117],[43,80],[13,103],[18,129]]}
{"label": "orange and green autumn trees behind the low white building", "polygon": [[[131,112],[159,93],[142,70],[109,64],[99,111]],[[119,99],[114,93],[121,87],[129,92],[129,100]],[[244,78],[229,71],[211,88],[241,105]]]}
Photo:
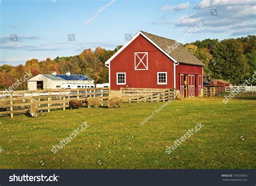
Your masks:
{"label": "orange and green autumn trees behind the low white building", "polygon": [[[66,74],[67,71],[70,71],[71,74],[83,74],[90,77],[95,80],[95,83],[106,83],[109,81],[109,71],[105,66],[105,61],[111,58],[120,47],[122,46],[116,47],[113,51],[100,47],[92,51],[89,48],[75,56],[57,57],[53,60],[46,58],[43,61],[31,59],[26,61],[25,65],[16,67],[0,66],[0,90],[11,87],[26,72],[33,77],[38,74],[51,74],[52,71],[56,71],[57,74]],[[27,82],[23,82],[16,87],[16,90],[26,90],[27,86]]]}

